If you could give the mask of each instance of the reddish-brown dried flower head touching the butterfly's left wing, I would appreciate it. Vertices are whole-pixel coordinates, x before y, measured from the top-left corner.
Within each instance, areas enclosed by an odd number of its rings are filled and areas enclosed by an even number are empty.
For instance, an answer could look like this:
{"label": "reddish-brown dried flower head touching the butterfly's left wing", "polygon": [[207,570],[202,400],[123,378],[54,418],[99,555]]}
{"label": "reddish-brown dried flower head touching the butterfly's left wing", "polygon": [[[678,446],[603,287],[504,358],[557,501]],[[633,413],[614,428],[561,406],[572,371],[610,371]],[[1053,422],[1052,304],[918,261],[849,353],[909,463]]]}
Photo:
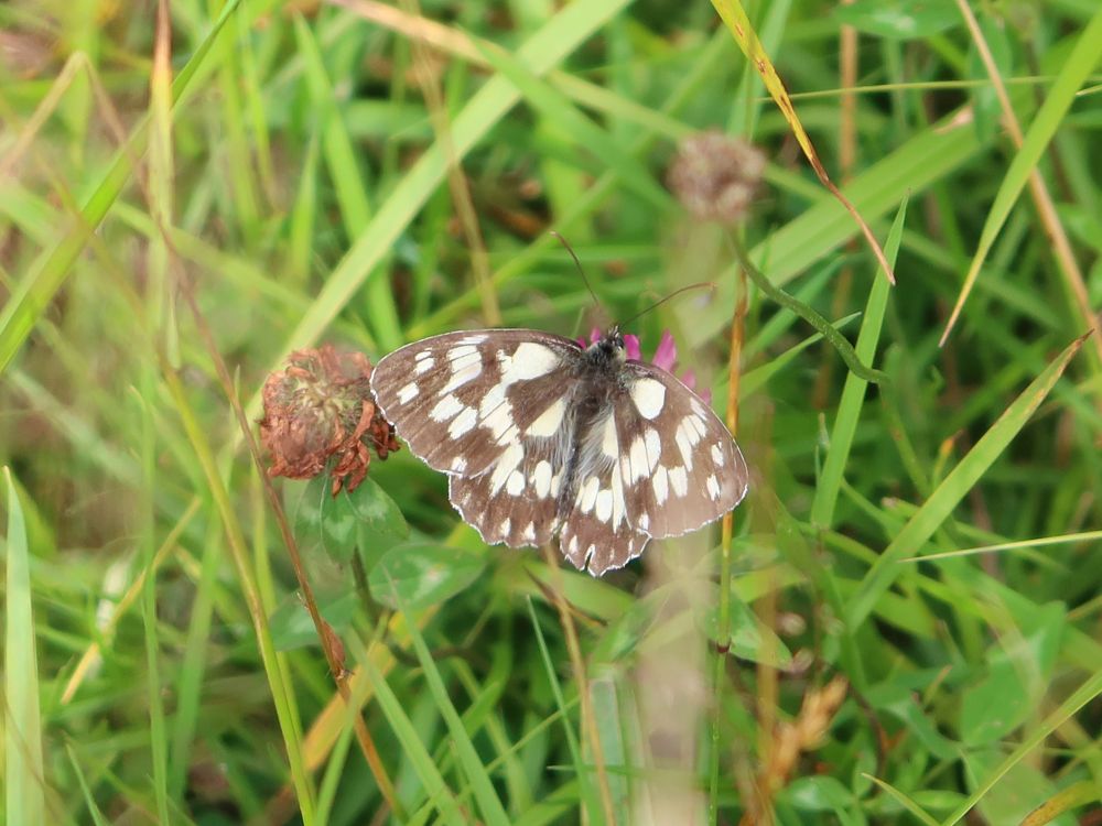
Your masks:
{"label": "reddish-brown dried flower head touching the butterfly's left wing", "polygon": [[333,494],[364,481],[371,464],[398,449],[393,427],[371,401],[371,362],[332,345],[298,350],[264,382],[260,437],[272,455],[271,476],[312,479],[332,463]]}

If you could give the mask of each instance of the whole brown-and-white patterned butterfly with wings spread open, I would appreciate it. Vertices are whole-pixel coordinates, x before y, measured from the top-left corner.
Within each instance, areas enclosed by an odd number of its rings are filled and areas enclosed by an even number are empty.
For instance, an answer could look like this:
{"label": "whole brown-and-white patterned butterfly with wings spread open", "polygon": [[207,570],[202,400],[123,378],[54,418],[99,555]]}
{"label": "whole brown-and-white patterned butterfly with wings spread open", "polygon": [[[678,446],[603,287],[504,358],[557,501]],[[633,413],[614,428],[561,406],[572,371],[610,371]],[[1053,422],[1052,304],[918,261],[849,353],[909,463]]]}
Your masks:
{"label": "whole brown-and-white patterned butterfly with wings spread open", "polygon": [[531,329],[446,333],[383,357],[371,392],[487,544],[542,546],[595,576],[737,506],[749,474],[711,407],[628,359]]}

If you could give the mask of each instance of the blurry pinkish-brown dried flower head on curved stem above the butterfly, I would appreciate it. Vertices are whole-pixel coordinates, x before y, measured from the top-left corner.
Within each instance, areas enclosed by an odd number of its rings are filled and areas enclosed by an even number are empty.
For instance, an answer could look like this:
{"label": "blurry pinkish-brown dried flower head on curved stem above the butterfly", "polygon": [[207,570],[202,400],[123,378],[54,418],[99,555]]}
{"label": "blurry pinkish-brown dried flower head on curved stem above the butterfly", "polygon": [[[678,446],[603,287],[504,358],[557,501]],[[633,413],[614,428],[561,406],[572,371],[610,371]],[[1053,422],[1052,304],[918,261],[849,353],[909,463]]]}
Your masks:
{"label": "blurry pinkish-brown dried flower head on curved stem above the butterfly", "polygon": [[741,221],[765,172],[765,155],[738,138],[702,132],[678,146],[667,183],[701,220]]}

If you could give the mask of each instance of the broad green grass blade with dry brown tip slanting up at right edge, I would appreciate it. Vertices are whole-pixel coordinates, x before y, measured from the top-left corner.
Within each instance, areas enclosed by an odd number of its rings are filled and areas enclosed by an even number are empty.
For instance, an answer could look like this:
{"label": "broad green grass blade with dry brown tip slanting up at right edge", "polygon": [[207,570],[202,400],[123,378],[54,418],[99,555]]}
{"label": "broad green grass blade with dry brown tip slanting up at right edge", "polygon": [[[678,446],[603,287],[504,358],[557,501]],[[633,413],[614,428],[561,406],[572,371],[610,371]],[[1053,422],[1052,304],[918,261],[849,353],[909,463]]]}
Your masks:
{"label": "broad green grass blade with dry brown tip slanting up at right edge", "polygon": [[850,604],[846,623],[851,631],[855,631],[868,618],[876,600],[892,587],[896,576],[906,569],[904,559],[918,553],[922,544],[952,513],[953,508],[1003,455],[1034,411],[1045,401],[1052,385],[1063,374],[1071,358],[1079,352],[1087,336],[1077,338],[1040,376],[1034,379],[885,548],[865,575],[860,590]]}

